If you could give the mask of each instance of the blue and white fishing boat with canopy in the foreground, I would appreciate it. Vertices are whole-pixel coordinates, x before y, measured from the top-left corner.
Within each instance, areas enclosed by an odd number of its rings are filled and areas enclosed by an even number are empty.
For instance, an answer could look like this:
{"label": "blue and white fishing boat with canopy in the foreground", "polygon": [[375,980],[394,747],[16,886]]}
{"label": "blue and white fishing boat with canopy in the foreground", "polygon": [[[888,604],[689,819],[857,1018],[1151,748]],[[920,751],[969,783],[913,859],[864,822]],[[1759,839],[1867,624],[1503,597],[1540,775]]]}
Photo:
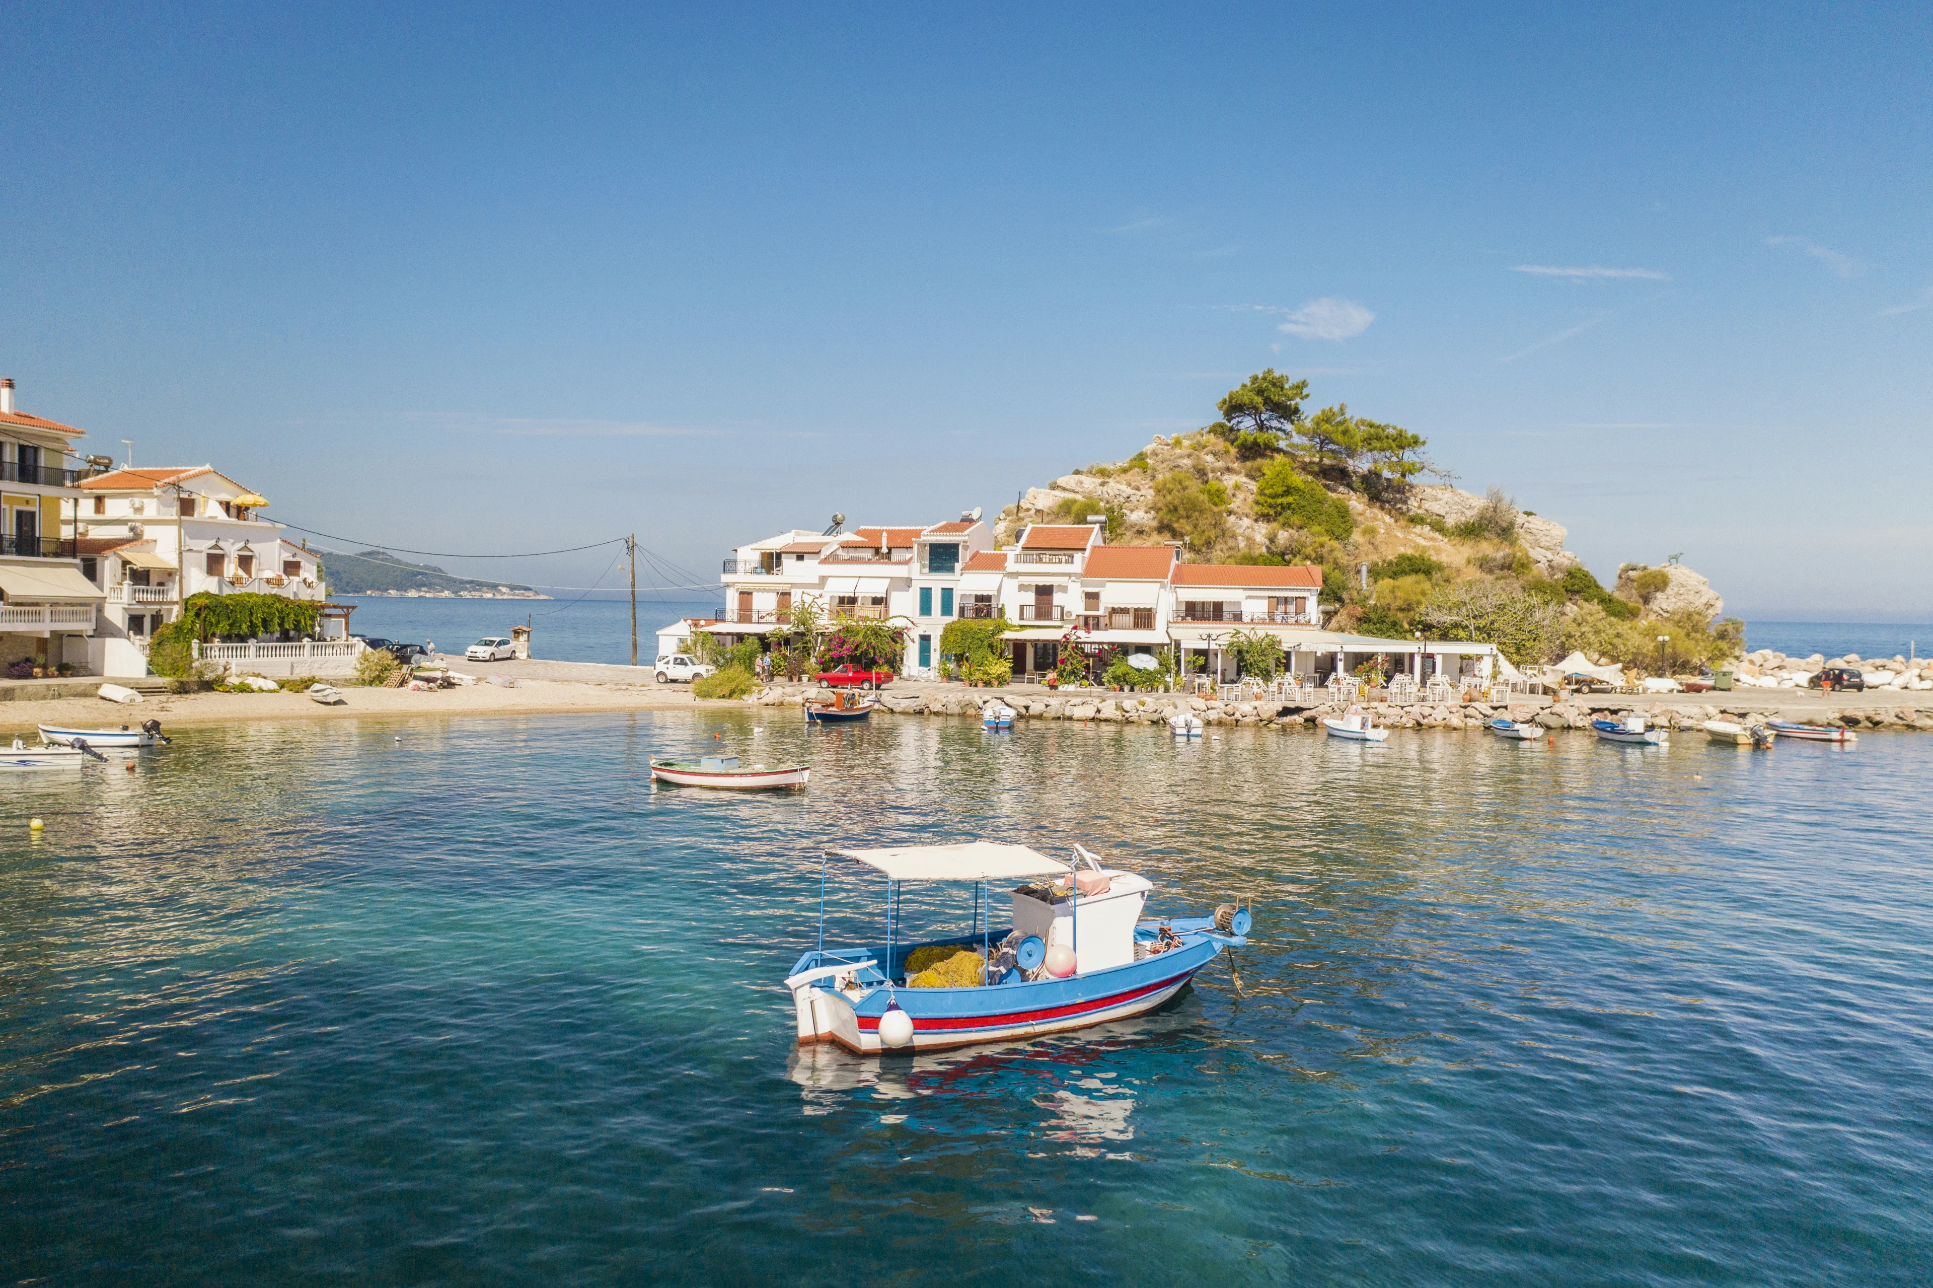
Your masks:
{"label": "blue and white fishing boat with canopy in the foreground", "polygon": [[[1251,913],[1224,903],[1212,917],[1142,919],[1150,882],[1024,845],[901,845],[831,849],[820,866],[820,946],[785,981],[798,1042],[837,1042],[862,1056],[941,1050],[1065,1033],[1162,1006],[1224,948],[1245,946]],[[825,946],[825,863],[849,859],[885,876],[885,940]],[[972,934],[903,938],[907,882],[974,886]],[[992,884],[1013,886],[1011,928],[992,928]],[[909,959],[936,963],[909,971]],[[914,982],[920,981],[920,982]]]}

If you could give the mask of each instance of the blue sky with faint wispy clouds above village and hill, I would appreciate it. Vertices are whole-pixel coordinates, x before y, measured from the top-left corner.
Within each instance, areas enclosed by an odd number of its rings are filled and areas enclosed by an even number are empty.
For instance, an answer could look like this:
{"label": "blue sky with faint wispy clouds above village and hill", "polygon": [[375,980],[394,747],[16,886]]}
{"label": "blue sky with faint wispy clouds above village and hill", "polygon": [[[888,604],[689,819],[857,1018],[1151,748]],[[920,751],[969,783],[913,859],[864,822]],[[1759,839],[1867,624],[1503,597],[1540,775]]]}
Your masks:
{"label": "blue sky with faint wispy clouds above village and hill", "polygon": [[1272,366],[1606,582],[1933,621],[1923,4],[12,4],[0,60],[19,406],[356,547],[709,584]]}

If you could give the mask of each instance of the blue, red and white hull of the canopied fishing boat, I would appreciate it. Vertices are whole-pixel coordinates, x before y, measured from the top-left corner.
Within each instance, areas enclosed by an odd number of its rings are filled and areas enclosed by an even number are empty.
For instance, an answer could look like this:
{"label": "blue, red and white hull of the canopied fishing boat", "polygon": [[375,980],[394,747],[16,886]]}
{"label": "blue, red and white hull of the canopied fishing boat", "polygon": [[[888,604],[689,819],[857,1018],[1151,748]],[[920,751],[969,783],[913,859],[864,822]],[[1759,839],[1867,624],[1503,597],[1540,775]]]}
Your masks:
{"label": "blue, red and white hull of the canopied fishing boat", "polygon": [[[802,986],[794,994],[802,998],[798,1042],[837,1042],[860,1056],[883,1056],[1011,1042],[1129,1019],[1171,1000],[1222,951],[1216,938],[1187,940],[1171,951],[1073,979],[988,988],[874,986],[856,1000],[831,988]],[[812,957],[818,953],[802,959],[800,967]],[[880,1017],[889,1004],[912,1019],[912,1039],[905,1046],[880,1040]]]}

